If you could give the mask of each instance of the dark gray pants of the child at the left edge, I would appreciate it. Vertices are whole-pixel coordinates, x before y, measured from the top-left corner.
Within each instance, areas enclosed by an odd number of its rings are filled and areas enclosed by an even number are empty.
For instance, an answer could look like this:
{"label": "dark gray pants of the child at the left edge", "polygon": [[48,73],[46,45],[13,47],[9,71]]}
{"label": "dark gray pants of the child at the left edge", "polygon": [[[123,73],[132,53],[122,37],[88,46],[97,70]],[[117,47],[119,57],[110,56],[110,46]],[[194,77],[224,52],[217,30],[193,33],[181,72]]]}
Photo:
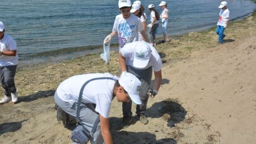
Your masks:
{"label": "dark gray pants of the child at the left edge", "polygon": [[4,94],[7,97],[11,97],[11,93],[16,92],[15,81],[14,81],[16,68],[17,68],[17,65],[0,66],[1,85],[4,89]]}

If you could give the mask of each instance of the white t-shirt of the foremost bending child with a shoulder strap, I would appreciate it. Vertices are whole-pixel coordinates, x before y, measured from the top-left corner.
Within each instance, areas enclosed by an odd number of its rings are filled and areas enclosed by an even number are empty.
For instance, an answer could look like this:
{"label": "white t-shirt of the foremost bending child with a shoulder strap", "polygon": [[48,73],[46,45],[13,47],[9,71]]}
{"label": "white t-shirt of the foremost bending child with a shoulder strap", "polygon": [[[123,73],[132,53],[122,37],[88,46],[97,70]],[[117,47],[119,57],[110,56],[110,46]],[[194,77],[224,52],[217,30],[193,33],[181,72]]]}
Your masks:
{"label": "white t-shirt of the foremost bending child with a shoulder strap", "polygon": [[[82,85],[92,79],[100,77],[111,77],[119,80],[118,77],[110,73],[94,73],[87,75],[76,75],[64,80],[56,90],[59,99],[65,102],[78,101],[80,89]],[[96,104],[95,111],[99,112],[103,117],[109,117],[111,100],[113,99],[114,80],[93,80],[90,81],[84,88],[82,94],[83,103]]]}

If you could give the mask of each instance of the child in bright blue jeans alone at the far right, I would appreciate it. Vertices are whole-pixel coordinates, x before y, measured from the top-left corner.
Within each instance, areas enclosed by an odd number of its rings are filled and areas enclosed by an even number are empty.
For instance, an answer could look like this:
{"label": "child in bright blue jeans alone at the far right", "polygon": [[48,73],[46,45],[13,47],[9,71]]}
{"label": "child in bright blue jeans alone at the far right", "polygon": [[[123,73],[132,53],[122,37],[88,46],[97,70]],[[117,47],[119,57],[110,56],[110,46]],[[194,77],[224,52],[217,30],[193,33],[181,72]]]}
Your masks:
{"label": "child in bright blue jeans alone at the far right", "polygon": [[221,11],[219,12],[219,21],[217,22],[217,28],[216,33],[219,35],[218,43],[222,44],[224,37],[224,30],[226,27],[228,27],[228,21],[229,21],[229,10],[227,8],[228,3],[226,1],[222,1],[219,5],[219,8],[221,8]]}

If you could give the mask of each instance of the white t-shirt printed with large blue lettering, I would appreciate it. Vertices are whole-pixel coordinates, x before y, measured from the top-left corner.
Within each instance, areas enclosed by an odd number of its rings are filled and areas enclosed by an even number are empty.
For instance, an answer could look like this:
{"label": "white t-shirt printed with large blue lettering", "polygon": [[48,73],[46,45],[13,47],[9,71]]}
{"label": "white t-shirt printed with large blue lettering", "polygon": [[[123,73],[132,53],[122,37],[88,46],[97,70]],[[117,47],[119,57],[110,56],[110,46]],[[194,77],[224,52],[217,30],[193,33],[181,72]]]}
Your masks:
{"label": "white t-shirt printed with large blue lettering", "polygon": [[142,30],[142,23],[138,16],[132,13],[129,18],[123,18],[122,14],[117,15],[113,32],[118,32],[119,52],[127,43],[138,41],[138,32]]}

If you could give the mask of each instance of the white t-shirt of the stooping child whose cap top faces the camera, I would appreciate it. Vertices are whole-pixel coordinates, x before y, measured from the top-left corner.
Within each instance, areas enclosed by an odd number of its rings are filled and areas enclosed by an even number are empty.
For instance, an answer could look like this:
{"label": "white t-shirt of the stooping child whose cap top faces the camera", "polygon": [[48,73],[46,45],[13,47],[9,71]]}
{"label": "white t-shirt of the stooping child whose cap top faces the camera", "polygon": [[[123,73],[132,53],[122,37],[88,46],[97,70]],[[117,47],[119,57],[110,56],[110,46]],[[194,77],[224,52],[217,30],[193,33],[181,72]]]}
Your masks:
{"label": "white t-shirt of the stooping child whose cap top faces the camera", "polygon": [[[138,41],[138,42],[141,42],[141,41]],[[133,66],[134,49],[136,49],[135,45],[138,42],[132,42],[130,44],[126,44],[121,51],[122,56],[125,57],[126,65],[130,65],[133,68],[135,68],[135,66]],[[162,69],[162,59],[152,45],[150,45],[150,49],[152,51],[150,61],[147,64],[147,66],[142,69],[147,69],[150,66],[152,66],[154,71],[160,71]],[[138,68],[135,68],[135,69],[138,69]]]}

